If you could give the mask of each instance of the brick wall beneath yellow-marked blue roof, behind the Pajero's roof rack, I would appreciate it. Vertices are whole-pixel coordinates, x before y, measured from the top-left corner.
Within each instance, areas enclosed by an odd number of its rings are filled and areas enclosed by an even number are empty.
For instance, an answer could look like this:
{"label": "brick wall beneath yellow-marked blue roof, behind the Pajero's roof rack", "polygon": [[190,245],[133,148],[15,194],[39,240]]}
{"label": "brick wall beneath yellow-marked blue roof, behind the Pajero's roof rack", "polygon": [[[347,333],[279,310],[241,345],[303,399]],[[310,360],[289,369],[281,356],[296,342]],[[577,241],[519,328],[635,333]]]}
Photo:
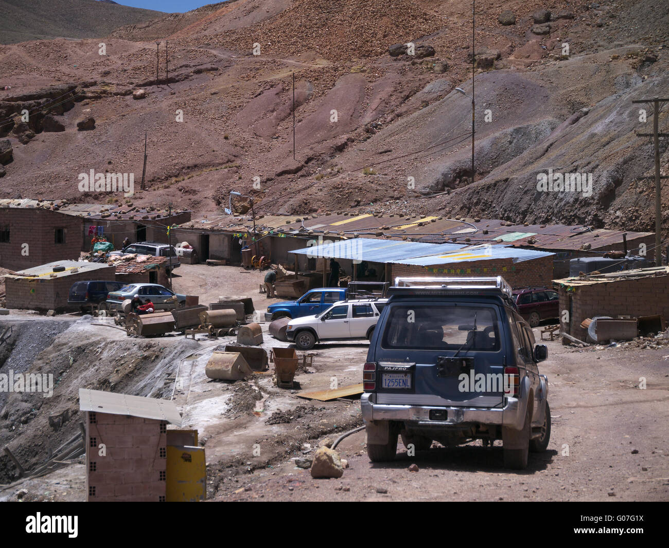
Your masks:
{"label": "brick wall beneath yellow-marked blue roof, behind the Pajero's roof rack", "polygon": [[512,259],[492,259],[432,267],[393,264],[391,273],[393,281],[397,276],[501,276],[514,289],[531,285],[551,287],[553,255],[520,263],[514,263]]}

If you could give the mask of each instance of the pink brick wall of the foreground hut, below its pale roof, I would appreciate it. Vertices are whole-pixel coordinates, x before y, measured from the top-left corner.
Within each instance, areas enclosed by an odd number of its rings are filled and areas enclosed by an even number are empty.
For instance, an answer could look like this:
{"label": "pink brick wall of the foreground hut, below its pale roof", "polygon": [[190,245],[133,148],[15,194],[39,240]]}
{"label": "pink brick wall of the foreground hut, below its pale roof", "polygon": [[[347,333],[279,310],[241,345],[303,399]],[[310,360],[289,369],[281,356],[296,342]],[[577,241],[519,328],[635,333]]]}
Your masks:
{"label": "pink brick wall of the foreground hut, below its pale roof", "polygon": [[152,418],[86,412],[86,500],[165,501],[166,425]]}

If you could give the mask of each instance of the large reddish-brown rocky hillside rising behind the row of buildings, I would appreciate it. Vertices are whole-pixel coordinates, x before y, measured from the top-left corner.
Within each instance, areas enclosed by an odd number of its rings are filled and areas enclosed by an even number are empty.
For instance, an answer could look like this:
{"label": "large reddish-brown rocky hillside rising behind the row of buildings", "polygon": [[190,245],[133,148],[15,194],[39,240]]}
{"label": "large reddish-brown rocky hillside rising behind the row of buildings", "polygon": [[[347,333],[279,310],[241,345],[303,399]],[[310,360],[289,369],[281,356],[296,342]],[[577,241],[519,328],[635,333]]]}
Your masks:
{"label": "large reddish-brown rocky hillside rising behind the row of buildings", "polygon": [[[0,84],[11,86],[0,90],[0,194],[126,200],[82,194],[77,176],[94,168],[139,180],[146,131],[137,204],[220,213],[239,190],[264,212],[438,211],[652,229],[643,178],[652,147],[636,136],[652,117],[642,121],[632,100],[669,94],[662,0],[481,0],[475,52],[470,1],[388,5],[235,0],[118,29],[105,56],[97,40],[0,46]],[[169,49],[161,43],[157,84],[160,37]],[[473,182],[471,100],[454,91],[471,94],[472,55]],[[667,174],[666,142],[660,152]],[[584,174],[592,187],[539,191],[548,170]]]}

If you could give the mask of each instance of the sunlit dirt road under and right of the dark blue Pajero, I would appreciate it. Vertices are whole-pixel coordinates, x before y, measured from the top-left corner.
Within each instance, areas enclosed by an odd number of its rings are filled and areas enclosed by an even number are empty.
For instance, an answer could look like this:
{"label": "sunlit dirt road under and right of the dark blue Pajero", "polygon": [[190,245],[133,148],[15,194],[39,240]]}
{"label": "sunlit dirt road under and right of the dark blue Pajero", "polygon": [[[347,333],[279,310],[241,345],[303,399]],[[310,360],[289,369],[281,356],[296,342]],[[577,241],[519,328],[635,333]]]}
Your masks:
{"label": "sunlit dirt road under and right of the dark blue Pajero", "polygon": [[[537,335],[539,333],[535,330]],[[539,338],[537,336],[537,338]],[[480,442],[373,464],[365,433],[338,447],[349,469],[314,480],[292,462],[257,470],[220,500],[276,501],[666,501],[669,499],[669,348],[593,351],[549,343],[553,433],[522,472],[502,467],[502,448]],[[639,387],[646,378],[646,389]],[[415,463],[418,472],[407,468]],[[239,489],[239,487],[237,488]]]}

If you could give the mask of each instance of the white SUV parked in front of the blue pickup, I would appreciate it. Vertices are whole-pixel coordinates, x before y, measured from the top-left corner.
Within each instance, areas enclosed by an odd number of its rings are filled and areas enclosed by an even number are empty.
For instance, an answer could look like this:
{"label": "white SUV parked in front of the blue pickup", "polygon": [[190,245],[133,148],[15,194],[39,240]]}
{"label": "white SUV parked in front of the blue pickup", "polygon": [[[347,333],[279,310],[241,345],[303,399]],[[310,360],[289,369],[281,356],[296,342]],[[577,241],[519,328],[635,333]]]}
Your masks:
{"label": "white SUV parked in front of the blue pickup", "polygon": [[310,350],[321,341],[371,339],[381,310],[388,299],[339,301],[326,311],[290,320],[286,337],[300,350]]}

